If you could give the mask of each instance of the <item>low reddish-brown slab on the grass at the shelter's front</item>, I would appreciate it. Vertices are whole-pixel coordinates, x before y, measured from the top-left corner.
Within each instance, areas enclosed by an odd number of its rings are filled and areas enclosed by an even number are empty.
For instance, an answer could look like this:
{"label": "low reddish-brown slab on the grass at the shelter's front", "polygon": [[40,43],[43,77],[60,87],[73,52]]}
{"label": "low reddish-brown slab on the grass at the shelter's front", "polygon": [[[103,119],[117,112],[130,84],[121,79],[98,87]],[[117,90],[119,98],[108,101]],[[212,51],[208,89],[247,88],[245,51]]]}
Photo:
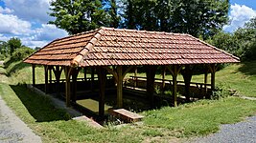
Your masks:
{"label": "low reddish-brown slab on the grass at the shelter's front", "polygon": [[125,109],[108,110],[109,114],[118,117],[126,122],[137,122],[140,121],[144,116],[138,113],[129,112]]}

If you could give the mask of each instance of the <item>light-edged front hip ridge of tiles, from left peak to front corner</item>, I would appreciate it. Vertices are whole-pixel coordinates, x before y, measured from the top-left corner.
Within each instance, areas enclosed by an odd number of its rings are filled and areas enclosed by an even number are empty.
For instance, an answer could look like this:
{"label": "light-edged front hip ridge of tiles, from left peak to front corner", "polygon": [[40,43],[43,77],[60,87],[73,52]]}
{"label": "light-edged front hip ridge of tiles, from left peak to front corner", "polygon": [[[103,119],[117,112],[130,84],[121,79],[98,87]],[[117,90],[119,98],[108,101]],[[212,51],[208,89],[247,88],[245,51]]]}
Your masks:
{"label": "light-edged front hip ridge of tiles, from left peak to front corner", "polygon": [[86,44],[86,46],[78,53],[78,55],[70,62],[72,67],[79,67],[82,58],[88,54],[94,47],[94,45],[101,39],[102,35],[105,32],[105,28],[100,28],[96,31],[95,35],[91,38],[91,40]]}

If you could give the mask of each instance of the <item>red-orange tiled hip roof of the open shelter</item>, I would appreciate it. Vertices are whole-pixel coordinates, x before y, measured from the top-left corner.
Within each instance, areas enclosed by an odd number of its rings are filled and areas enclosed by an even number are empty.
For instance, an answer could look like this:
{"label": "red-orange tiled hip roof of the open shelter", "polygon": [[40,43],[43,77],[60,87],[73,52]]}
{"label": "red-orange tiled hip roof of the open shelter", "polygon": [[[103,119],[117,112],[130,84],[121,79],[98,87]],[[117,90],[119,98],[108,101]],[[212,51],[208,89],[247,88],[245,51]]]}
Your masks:
{"label": "red-orange tiled hip roof of the open shelter", "polygon": [[86,67],[234,63],[239,58],[189,34],[101,28],[57,39],[24,62]]}

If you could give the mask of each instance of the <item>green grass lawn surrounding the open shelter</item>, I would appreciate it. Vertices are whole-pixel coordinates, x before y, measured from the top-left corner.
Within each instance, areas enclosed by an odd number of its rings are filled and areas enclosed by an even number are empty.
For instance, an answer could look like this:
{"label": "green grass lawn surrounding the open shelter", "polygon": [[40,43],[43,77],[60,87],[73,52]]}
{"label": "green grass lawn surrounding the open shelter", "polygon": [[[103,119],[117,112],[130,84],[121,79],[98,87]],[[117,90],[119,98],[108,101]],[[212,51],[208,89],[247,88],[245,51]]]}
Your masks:
{"label": "green grass lawn surrounding the open shelter", "polygon": [[[217,72],[217,82],[224,81],[232,89],[250,95],[256,83],[256,62],[248,63],[250,72],[243,71],[246,64],[231,65]],[[251,70],[253,65],[254,70]],[[5,72],[3,69],[0,71]],[[141,112],[145,115],[143,124],[124,127],[108,125],[105,129],[93,129],[83,122],[71,120],[69,114],[56,109],[47,97],[28,90],[22,83],[31,83],[31,71],[26,65],[12,63],[7,69],[7,73],[11,73],[9,83],[0,83],[0,95],[44,142],[180,141],[186,137],[215,133],[221,124],[235,123],[256,113],[256,101],[229,97]],[[195,75],[194,80],[200,76]],[[37,83],[43,82],[42,68],[36,68],[36,77]],[[203,76],[201,78],[203,80]],[[245,81],[249,85],[244,84]],[[246,91],[243,87],[251,89]]]}

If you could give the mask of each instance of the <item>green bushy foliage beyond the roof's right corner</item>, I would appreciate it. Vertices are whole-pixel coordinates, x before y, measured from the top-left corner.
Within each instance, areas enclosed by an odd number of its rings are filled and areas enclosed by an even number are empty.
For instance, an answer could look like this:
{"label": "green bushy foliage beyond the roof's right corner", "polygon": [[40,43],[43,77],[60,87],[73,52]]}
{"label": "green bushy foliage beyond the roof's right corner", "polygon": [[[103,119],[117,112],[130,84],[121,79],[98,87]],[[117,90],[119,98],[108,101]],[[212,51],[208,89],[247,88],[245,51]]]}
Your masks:
{"label": "green bushy foliage beyond the roof's right corner", "polygon": [[256,60],[256,17],[233,33],[217,33],[208,42],[242,60]]}

